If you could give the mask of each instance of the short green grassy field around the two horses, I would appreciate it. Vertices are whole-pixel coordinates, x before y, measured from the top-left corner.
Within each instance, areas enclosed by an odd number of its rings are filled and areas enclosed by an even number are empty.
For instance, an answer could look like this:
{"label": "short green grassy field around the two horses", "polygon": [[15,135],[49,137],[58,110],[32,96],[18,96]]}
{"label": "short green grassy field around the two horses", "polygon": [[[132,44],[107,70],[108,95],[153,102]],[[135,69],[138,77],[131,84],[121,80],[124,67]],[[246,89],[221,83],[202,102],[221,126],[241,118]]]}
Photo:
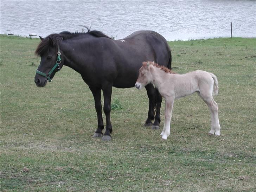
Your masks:
{"label": "short green grassy field around the two horses", "polygon": [[0,191],[256,191],[256,39],[169,42],[175,72],[218,77],[220,137],[197,94],[174,102],[162,141],[143,127],[146,90],[113,88],[110,142],[92,138],[94,100],[77,72],[36,87],[39,41],[0,36]]}

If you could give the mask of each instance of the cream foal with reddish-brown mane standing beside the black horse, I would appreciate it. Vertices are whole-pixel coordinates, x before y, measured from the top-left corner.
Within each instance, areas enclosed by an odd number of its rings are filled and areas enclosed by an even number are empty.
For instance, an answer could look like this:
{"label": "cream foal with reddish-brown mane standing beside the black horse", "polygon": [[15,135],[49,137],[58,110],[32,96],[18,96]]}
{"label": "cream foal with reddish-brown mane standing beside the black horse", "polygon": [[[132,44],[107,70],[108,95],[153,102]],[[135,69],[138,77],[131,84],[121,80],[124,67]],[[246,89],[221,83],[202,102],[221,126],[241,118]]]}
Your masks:
{"label": "cream foal with reddish-brown mane standing beside the black horse", "polygon": [[153,85],[165,98],[165,124],[161,136],[166,140],[170,135],[170,125],[174,100],[197,92],[211,111],[211,130],[209,135],[220,134],[218,105],[212,95],[218,95],[218,80],[206,71],[193,71],[183,75],[173,74],[165,67],[154,62],[143,62],[135,87],[141,89],[147,84]]}

